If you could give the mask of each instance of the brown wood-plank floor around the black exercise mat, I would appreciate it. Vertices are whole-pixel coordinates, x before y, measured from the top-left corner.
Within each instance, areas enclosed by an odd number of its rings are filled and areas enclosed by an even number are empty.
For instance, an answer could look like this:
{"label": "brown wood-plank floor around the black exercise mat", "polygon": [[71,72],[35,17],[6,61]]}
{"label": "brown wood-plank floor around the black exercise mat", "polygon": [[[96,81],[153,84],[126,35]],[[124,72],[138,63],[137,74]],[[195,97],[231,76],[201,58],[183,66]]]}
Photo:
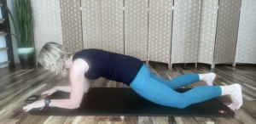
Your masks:
{"label": "brown wood-plank floor around the black exercise mat", "polygon": [[[154,74],[165,79],[189,73],[207,73],[214,71],[218,76],[214,85],[240,83],[243,88],[244,104],[240,110],[234,110],[235,118],[201,117],[152,117],[152,116],[30,116],[22,110],[24,100],[32,94],[40,94],[56,85],[68,85],[68,78],[57,79],[53,74],[41,68],[32,70],[0,70],[0,123],[6,124],[256,124],[256,65],[217,65],[210,70],[210,65],[167,65],[152,63],[148,65]],[[187,87],[198,87],[205,82],[196,82]],[[127,87],[100,78],[92,87]],[[41,98],[42,99],[42,98]],[[230,103],[229,97],[220,97],[224,104]]]}

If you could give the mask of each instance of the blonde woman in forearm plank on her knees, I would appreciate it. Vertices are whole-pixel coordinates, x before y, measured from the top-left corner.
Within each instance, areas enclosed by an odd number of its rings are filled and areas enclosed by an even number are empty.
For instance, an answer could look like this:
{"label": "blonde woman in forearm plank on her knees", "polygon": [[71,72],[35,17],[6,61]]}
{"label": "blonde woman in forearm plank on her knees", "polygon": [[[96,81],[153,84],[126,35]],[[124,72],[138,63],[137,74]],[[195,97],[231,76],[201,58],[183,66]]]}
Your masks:
{"label": "blonde woman in forearm plank on her knees", "polygon": [[[70,87],[54,87],[43,94],[50,95],[56,91],[70,92],[70,99],[39,100],[26,105],[23,109],[28,111],[41,108],[44,105],[65,109],[79,108],[84,93],[90,88],[90,80],[104,77],[115,82],[124,82],[143,98],[156,104],[169,107],[186,108],[190,104],[213,99],[219,96],[230,95],[233,103],[230,109],[237,110],[242,105],[241,86],[212,86],[214,73],[187,74],[177,76],[171,81],[155,76],[139,59],[124,54],[115,54],[100,49],[85,49],[76,54],[67,51],[63,45],[48,42],[39,54],[39,63],[46,70],[55,71],[56,74],[66,76],[70,73]],[[186,93],[177,93],[175,89],[194,82],[204,81],[207,86],[195,87]]]}

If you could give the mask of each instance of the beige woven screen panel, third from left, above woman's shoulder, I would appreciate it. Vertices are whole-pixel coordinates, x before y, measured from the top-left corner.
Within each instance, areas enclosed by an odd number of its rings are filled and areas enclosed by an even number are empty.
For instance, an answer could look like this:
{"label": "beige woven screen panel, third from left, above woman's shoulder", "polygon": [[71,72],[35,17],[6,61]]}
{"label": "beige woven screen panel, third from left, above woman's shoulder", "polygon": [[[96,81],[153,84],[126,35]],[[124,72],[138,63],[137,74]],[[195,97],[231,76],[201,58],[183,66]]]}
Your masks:
{"label": "beige woven screen panel, third from left, above woman's shoulder", "polygon": [[82,0],[84,49],[102,49],[101,1]]}

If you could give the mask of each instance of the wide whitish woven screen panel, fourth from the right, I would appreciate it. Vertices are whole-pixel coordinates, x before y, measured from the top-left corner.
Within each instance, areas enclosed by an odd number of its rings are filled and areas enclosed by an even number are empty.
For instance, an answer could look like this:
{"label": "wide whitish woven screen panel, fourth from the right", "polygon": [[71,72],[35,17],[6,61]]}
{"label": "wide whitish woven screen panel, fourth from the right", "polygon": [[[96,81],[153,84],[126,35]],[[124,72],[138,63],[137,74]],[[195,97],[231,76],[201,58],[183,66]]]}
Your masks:
{"label": "wide whitish woven screen panel, fourth from the right", "polygon": [[171,63],[196,63],[201,0],[174,0]]}

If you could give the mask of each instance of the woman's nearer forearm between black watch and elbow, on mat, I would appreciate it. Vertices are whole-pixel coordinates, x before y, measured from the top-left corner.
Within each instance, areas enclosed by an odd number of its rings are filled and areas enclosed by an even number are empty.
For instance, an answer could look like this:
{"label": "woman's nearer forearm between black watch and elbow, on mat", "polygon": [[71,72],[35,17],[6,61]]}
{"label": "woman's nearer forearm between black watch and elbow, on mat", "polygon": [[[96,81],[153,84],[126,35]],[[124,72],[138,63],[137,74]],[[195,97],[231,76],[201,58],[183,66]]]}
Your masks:
{"label": "woman's nearer forearm between black watch and elbow, on mat", "polygon": [[58,107],[64,109],[76,109],[79,108],[78,104],[73,104],[70,99],[51,99],[49,103],[50,107]]}

